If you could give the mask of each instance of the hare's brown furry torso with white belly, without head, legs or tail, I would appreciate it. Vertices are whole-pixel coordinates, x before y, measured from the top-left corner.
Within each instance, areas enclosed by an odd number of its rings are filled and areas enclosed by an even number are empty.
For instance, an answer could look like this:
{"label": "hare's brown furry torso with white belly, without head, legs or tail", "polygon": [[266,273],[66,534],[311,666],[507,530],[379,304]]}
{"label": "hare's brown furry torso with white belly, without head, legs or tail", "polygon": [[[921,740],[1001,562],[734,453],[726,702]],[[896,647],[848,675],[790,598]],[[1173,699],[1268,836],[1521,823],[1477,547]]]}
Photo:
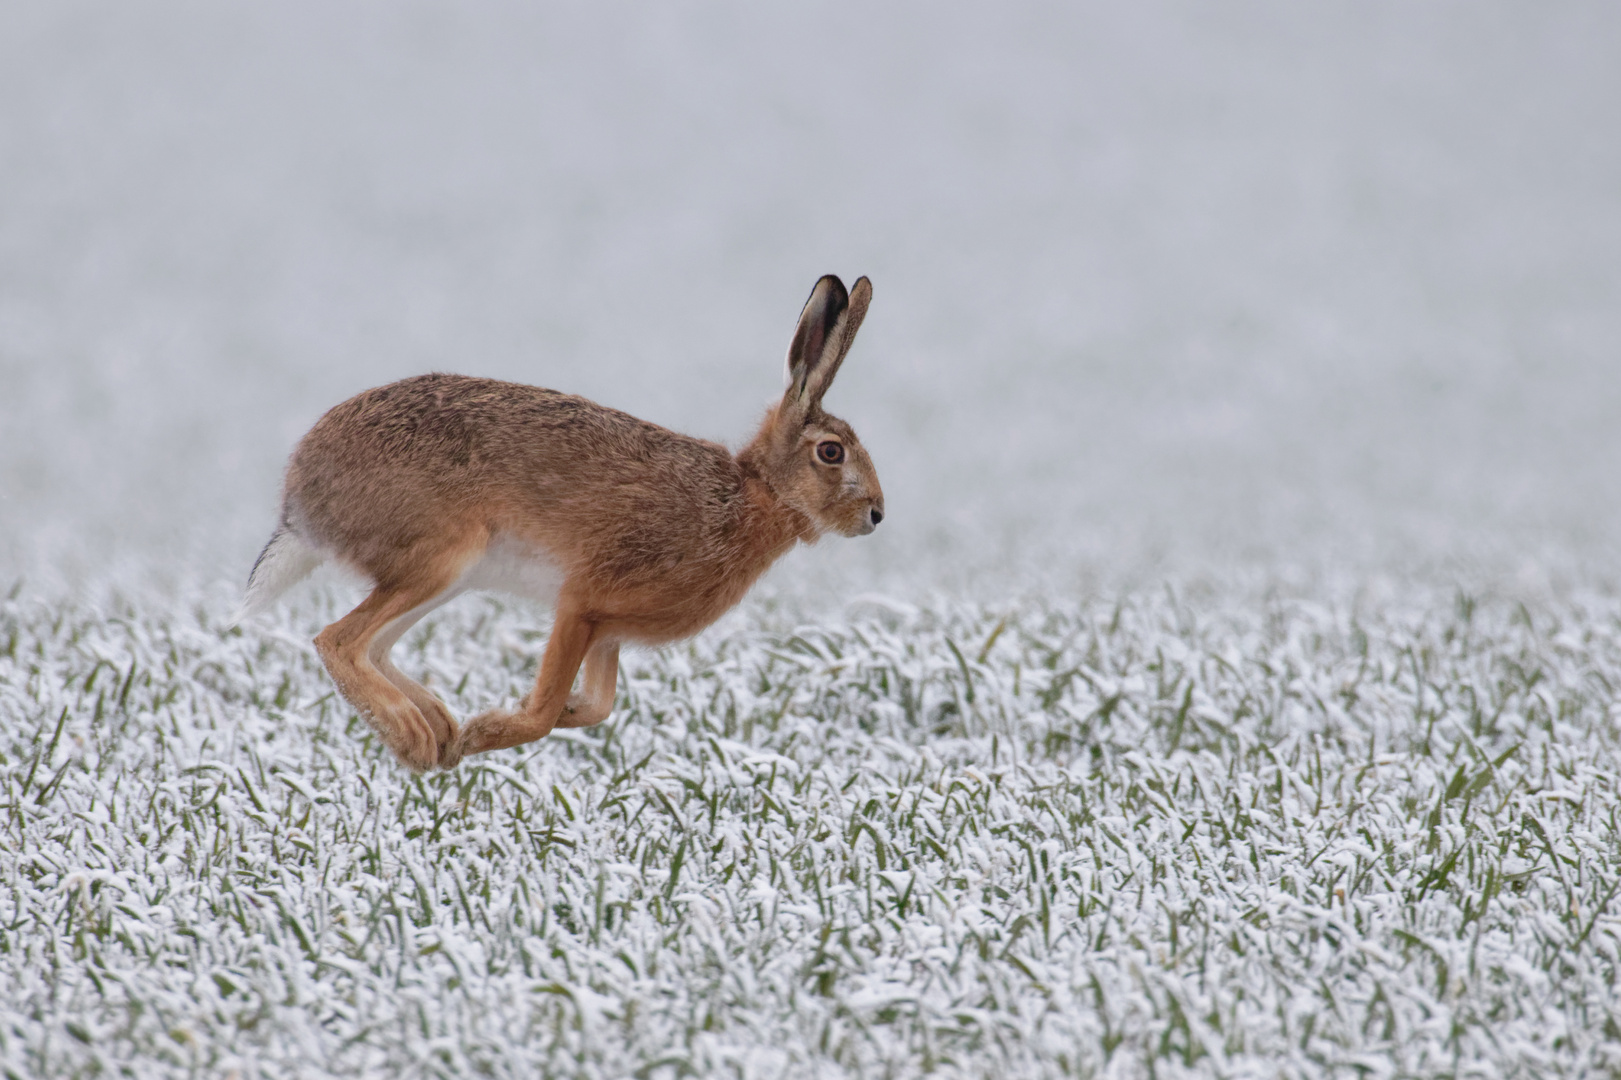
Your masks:
{"label": "hare's brown furry torso with white belly, without head, legs or tail", "polygon": [[[336,467],[334,467],[336,465]],[[815,525],[725,446],[584,397],[423,375],[349,399],[287,469],[285,527],[378,585],[554,603],[564,582],[621,641],[704,629]]]}

